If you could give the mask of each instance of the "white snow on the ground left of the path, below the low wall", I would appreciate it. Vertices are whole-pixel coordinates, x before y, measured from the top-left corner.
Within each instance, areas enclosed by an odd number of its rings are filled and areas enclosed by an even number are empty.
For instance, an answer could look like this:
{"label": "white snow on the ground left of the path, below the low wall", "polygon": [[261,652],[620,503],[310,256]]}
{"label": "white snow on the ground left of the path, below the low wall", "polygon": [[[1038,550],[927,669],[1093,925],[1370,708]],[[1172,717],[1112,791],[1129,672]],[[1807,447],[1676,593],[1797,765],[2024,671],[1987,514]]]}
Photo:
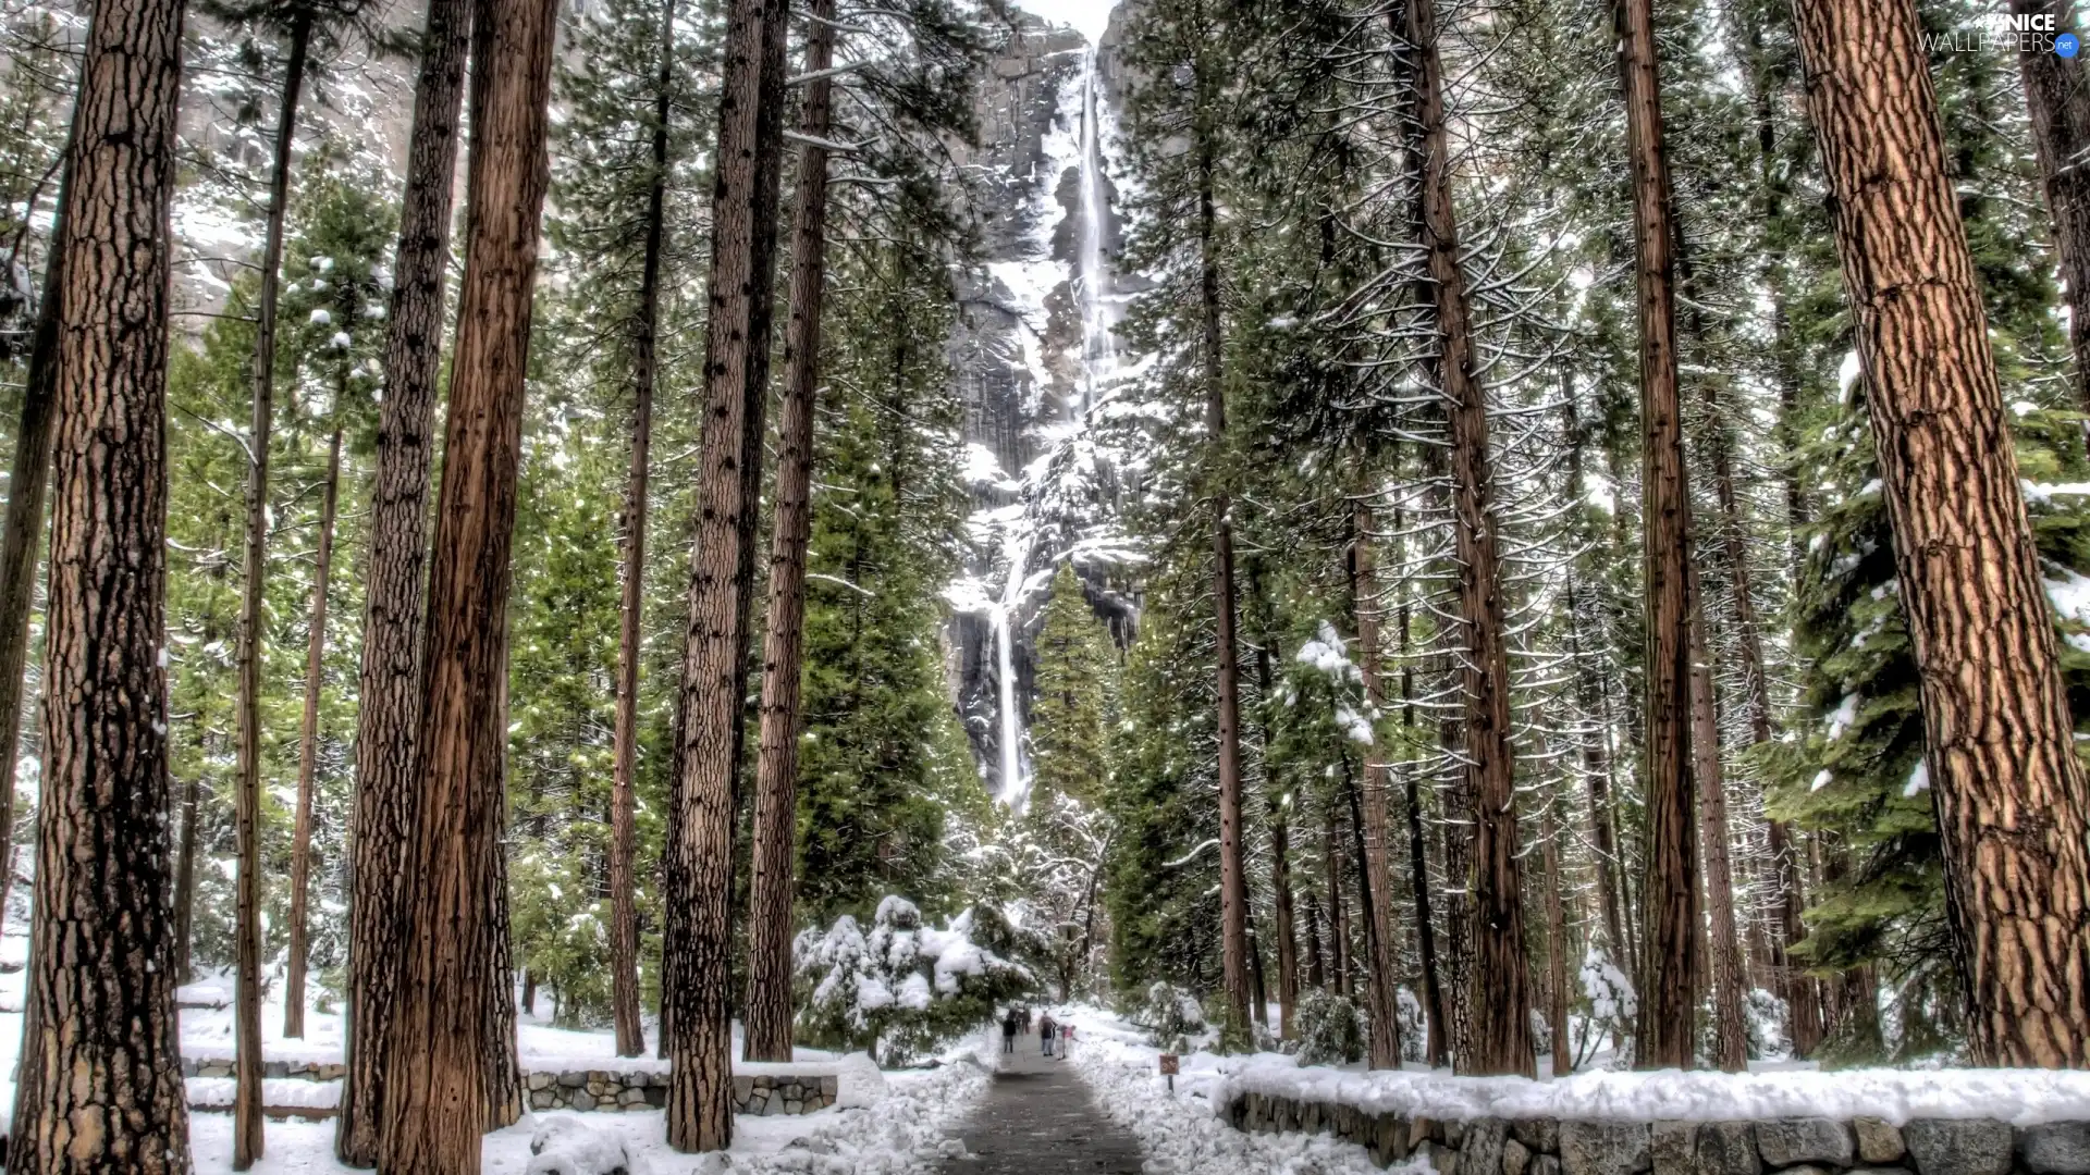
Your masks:
{"label": "white snow on the ground left of the path, below the low wall", "polygon": [[[487,1135],[481,1150],[485,1175],[522,1175],[531,1165],[531,1139],[545,1123],[573,1139],[577,1152],[623,1148],[631,1175],[926,1175],[963,1146],[951,1137],[972,1104],[986,1091],[993,1050],[982,1033],[945,1054],[936,1068],[888,1073],[886,1091],[865,1108],[834,1108],[817,1114],[734,1119],[729,1158],[677,1154],[667,1146],[667,1116],[637,1114],[522,1114],[512,1127]],[[190,1146],[196,1175],[232,1169],[232,1116],[192,1114]],[[594,1137],[589,1137],[594,1135]],[[334,1162],[332,1123],[268,1123],[268,1154],[253,1167],[257,1175],[345,1173]]]}

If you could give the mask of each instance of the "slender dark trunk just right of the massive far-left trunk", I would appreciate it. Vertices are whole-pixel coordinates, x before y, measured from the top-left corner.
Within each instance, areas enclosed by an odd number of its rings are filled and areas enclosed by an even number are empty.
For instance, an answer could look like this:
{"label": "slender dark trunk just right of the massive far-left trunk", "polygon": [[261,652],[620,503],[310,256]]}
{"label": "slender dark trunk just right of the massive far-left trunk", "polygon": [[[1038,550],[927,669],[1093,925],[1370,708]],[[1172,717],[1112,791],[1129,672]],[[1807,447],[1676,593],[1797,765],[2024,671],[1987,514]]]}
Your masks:
{"label": "slender dark trunk just right of the massive far-left trunk", "polygon": [[282,98],[276,109],[276,159],[270,167],[268,230],[261,245],[261,293],[255,305],[253,424],[247,433],[247,558],[240,585],[238,640],[238,742],[232,824],[238,874],[234,886],[232,1039],[232,1169],[247,1171],[261,1158],[261,640],[268,594],[268,445],[276,416],[276,295],[282,280],[282,228],[291,211],[291,146],[297,138],[297,100],[305,88],[311,15],[299,8],[284,59]]}

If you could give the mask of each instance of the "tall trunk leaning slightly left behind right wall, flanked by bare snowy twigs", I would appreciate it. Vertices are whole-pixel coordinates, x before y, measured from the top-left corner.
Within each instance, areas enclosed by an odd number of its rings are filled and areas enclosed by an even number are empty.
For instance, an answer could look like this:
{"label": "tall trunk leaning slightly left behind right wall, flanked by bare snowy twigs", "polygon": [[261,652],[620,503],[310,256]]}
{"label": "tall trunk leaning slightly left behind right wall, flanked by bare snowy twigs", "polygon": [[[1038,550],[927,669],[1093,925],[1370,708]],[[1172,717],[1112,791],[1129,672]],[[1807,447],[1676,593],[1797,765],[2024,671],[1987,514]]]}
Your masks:
{"label": "tall trunk leaning slightly left behind right wall, flanked by bare snowy twigs", "polygon": [[1450,194],[1450,134],[1444,115],[1444,59],[1438,52],[1436,2],[1409,4],[1409,44],[1417,59],[1415,113],[1423,132],[1421,230],[1436,295],[1434,360],[1450,418],[1453,531],[1459,562],[1463,636],[1465,776],[1473,824],[1467,886],[1471,974],[1467,1016],[1471,1073],[1534,1073],[1524,899],[1517,876],[1517,809],[1509,730],[1509,648],[1505,644],[1501,554],[1494,521],[1494,470],[1488,454],[1488,404],[1473,355],[1465,274],[1459,268],[1459,220]]}

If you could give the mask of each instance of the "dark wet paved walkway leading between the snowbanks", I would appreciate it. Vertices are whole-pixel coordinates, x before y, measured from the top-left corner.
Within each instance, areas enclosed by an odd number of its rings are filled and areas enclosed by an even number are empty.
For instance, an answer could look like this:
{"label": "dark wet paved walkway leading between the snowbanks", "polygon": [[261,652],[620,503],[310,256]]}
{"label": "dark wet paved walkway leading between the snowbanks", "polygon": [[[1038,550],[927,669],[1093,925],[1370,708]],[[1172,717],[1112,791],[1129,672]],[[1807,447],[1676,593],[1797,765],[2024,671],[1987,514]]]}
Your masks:
{"label": "dark wet paved walkway leading between the snowbanks", "polygon": [[1139,1144],[1068,1062],[1039,1056],[1037,1035],[1016,1037],[959,1137],[972,1158],[945,1162],[947,1175],[1139,1175]]}

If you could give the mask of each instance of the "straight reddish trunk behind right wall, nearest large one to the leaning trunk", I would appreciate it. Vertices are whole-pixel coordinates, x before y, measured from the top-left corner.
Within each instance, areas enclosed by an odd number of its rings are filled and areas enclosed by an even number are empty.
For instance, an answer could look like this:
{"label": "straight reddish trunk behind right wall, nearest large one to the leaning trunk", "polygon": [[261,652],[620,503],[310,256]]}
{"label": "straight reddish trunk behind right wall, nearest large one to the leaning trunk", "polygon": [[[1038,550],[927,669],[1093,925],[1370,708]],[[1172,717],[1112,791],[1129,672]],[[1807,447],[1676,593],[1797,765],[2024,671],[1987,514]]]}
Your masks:
{"label": "straight reddish trunk behind right wall, nearest large one to the leaning trunk", "polygon": [[1689,1068],[1697,1043],[1699,891],[1691,771],[1691,483],[1676,389],[1674,230],[1653,0],[1622,0],[1618,67],[1632,153],[1641,293],[1641,516],[1647,581],[1647,958],[1634,1062]]}

